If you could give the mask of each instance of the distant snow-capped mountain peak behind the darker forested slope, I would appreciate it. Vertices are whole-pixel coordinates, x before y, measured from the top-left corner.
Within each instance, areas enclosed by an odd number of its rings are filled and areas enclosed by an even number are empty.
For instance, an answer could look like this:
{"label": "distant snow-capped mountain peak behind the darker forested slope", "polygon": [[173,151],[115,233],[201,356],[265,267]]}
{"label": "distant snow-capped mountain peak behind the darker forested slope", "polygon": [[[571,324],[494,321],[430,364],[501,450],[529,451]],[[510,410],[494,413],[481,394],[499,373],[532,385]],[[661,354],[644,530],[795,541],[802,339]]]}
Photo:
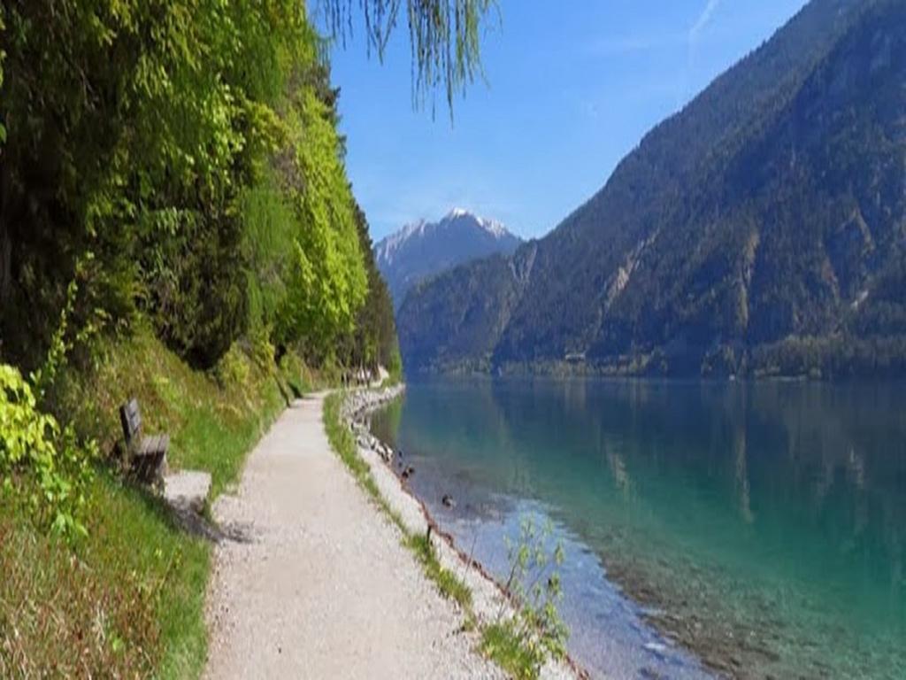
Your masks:
{"label": "distant snow-capped mountain peak behind the darker forested slope", "polygon": [[383,238],[374,254],[399,307],[419,282],[475,259],[509,255],[521,244],[500,222],[455,208],[437,222],[422,219]]}

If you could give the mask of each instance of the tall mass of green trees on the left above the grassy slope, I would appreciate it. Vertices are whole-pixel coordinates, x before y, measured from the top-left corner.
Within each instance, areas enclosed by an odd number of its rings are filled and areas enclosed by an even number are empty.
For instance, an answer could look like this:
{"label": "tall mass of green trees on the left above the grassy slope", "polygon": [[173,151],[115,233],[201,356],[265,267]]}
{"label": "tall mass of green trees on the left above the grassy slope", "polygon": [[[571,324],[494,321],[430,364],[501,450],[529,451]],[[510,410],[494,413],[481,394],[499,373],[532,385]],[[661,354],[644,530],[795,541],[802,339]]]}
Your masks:
{"label": "tall mass of green trees on the left above the grassy slope", "polygon": [[16,1],[0,21],[5,359],[40,362],[76,277],[73,333],[141,311],[205,368],[246,334],[333,357],[368,275],[304,3]]}

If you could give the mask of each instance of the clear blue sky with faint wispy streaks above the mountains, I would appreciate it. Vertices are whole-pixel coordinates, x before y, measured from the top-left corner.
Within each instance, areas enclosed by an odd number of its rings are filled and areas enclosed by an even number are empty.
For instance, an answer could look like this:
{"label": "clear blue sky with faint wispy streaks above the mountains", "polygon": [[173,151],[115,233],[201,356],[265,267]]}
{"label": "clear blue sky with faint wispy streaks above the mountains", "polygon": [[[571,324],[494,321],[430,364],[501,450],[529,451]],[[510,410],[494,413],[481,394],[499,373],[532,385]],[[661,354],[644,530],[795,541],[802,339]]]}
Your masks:
{"label": "clear blue sky with faint wispy streaks above the mountains", "polygon": [[375,240],[453,207],[544,235],[653,125],[765,41],[804,0],[499,0],[487,83],[451,124],[413,110],[409,36],[384,63],[361,27],[333,50],[353,190]]}

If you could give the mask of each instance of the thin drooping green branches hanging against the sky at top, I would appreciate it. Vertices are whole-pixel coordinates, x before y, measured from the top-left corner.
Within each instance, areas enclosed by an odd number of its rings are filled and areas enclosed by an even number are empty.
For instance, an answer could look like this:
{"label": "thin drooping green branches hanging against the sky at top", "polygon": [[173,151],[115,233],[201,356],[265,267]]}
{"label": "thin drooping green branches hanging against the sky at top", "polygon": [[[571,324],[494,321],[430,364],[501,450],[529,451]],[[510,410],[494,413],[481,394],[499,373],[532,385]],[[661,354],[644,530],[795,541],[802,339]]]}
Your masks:
{"label": "thin drooping green branches hanging against the sky at top", "polygon": [[453,97],[482,76],[481,29],[496,0],[320,0],[328,31],[345,44],[352,19],[361,13],[368,50],[383,59],[405,4],[412,51],[412,99],[417,107],[438,91]]}

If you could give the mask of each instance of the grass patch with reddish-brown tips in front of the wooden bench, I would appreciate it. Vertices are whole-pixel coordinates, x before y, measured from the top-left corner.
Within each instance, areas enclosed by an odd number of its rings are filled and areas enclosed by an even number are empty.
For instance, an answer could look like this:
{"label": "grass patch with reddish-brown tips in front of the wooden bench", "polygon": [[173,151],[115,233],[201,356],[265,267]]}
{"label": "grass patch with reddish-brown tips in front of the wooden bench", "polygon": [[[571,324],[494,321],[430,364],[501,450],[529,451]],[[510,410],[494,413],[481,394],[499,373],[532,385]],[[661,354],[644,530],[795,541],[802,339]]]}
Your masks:
{"label": "grass patch with reddish-brown tips in front of the wooden bench", "polygon": [[101,471],[74,547],[0,510],[0,677],[198,677],[210,548]]}

